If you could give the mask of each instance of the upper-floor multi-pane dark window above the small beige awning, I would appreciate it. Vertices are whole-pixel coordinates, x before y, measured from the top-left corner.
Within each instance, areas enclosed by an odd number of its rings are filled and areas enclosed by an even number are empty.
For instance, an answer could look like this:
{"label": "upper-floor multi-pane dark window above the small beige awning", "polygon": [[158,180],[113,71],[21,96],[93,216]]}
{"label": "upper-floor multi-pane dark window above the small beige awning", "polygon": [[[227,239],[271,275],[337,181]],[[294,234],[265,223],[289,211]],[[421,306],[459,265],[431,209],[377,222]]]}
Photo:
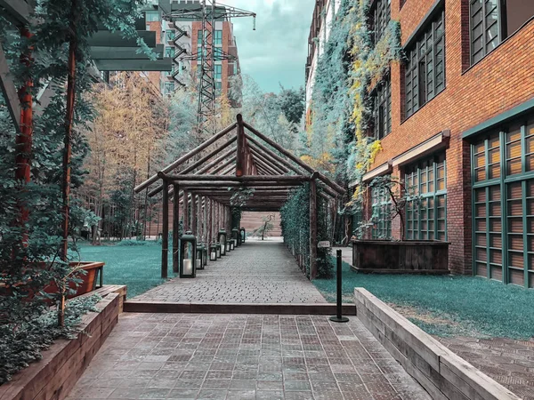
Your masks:
{"label": "upper-floor multi-pane dark window above the small beige awning", "polygon": [[417,36],[406,55],[406,116],[445,89],[445,12],[441,11]]}

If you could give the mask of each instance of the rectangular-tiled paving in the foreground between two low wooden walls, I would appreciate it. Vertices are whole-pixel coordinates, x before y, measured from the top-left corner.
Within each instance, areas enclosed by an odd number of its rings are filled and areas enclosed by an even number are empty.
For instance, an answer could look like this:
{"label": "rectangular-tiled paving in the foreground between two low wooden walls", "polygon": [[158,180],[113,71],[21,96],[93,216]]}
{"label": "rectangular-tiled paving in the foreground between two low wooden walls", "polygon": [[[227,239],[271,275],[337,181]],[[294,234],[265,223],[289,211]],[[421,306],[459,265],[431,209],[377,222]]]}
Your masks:
{"label": "rectangular-tiled paving in the foreground between two low wooden walls", "polygon": [[431,400],[356,317],[120,316],[68,400]]}

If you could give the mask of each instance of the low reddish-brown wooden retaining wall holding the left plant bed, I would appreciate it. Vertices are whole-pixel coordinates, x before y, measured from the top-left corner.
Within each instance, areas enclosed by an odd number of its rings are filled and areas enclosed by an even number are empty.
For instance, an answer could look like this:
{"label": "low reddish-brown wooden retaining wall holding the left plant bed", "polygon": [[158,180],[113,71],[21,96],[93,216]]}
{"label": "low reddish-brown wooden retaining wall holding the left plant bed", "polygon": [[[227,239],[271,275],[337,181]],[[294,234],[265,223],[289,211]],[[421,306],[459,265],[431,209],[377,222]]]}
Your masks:
{"label": "low reddish-brown wooden retaining wall holding the left plant bed", "polygon": [[100,313],[83,317],[82,332],[73,340],[56,340],[43,359],[13,376],[0,387],[0,400],[63,400],[104,340],[117,324],[119,295],[108,294],[96,305]]}

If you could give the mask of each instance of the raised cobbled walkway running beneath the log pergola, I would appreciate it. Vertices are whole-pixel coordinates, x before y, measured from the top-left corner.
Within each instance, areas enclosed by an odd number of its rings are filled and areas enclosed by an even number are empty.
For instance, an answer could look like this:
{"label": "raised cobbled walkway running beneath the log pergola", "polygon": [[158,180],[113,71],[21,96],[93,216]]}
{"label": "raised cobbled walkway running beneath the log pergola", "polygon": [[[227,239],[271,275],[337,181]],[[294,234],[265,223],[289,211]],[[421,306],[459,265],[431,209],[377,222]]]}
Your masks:
{"label": "raised cobbled walkway running beneath the log pergola", "polygon": [[248,241],[195,279],[175,278],[134,301],[217,303],[326,303],[280,241]]}

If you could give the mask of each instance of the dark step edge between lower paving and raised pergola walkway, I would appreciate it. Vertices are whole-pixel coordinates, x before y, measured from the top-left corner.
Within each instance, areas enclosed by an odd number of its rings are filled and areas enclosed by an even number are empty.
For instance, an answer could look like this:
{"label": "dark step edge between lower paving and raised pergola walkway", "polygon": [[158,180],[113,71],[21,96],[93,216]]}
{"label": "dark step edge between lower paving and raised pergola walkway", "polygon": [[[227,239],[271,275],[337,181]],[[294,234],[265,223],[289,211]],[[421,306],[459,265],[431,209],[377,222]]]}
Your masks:
{"label": "dark step edge between lower paving and raised pergola walkway", "polygon": [[[124,311],[129,313],[180,313],[180,314],[274,314],[334,316],[336,304],[296,304],[296,303],[172,303],[167,301],[133,301],[124,303]],[[354,304],[344,304],[343,314],[355,316]]]}

